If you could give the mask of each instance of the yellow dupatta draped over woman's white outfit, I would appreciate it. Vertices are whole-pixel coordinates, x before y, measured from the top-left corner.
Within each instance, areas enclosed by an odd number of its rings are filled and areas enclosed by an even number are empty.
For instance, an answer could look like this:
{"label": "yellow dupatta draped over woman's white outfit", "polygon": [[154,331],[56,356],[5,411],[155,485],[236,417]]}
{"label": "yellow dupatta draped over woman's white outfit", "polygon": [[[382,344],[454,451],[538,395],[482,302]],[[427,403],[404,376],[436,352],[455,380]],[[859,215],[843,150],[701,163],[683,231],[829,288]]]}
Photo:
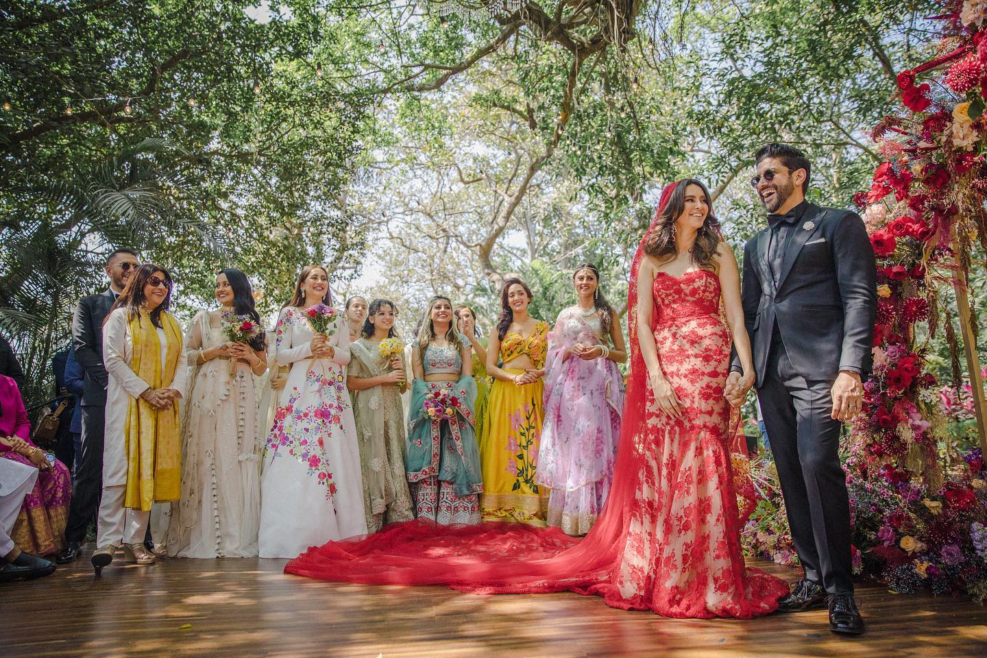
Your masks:
{"label": "yellow dupatta draped over woman's white outfit", "polygon": [[[166,312],[161,326],[168,340],[162,367],[161,341],[146,311],[140,311],[128,323],[133,341],[130,368],[151,388],[167,388],[175,379],[182,356],[182,328]],[[178,500],[182,495],[182,433],[179,404],[158,410],[139,398],[127,402],[126,424],[126,495],[124,507],[148,511],[152,502]]]}

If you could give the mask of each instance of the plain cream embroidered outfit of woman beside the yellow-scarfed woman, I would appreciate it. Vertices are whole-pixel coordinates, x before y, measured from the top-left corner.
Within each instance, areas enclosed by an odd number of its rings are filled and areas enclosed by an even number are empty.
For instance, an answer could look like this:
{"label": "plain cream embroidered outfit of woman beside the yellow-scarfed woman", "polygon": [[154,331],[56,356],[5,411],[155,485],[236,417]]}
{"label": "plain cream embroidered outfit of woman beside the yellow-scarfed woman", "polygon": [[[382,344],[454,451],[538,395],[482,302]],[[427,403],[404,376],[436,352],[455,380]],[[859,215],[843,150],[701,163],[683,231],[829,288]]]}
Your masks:
{"label": "plain cream embroidered outfit of woman beside the yellow-scarfed woman", "polygon": [[179,557],[254,557],[261,514],[257,379],[243,362],[199,349],[226,338],[219,318],[199,311],[186,333],[191,389],[182,423],[182,499],[171,505],[166,544]]}

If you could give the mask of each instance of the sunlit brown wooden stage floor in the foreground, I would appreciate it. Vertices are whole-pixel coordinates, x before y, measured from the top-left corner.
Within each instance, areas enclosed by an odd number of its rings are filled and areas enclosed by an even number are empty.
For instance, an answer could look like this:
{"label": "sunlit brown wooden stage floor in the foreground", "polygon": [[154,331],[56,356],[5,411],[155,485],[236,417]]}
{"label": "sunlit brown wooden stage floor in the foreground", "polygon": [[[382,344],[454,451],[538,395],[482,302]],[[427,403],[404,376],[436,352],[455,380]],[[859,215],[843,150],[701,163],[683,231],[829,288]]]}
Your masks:
{"label": "sunlit brown wooden stage floor in the foreground", "polygon": [[[987,608],[862,583],[870,632],[839,637],[825,612],[682,621],[576,594],[480,597],[281,573],[284,560],[88,560],[0,585],[0,656],[645,658],[987,656]],[[792,578],[792,569],[758,563]]]}

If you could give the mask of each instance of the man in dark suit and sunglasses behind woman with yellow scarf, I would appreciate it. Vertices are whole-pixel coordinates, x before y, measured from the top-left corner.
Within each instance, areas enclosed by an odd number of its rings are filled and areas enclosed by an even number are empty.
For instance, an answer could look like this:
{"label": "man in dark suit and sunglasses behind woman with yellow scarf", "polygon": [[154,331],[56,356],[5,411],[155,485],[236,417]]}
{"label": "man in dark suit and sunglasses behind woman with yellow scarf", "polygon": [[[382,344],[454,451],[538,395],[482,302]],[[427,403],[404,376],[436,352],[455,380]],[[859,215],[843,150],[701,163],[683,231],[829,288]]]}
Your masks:
{"label": "man in dark suit and sunglasses behind woman with yellow scarf", "polygon": [[128,249],[115,250],[106,262],[110,288],[82,298],[72,318],[75,359],[84,372],[82,458],[73,481],[72,503],[65,526],[65,548],[58,553],[58,561],[62,563],[71,562],[79,556],[79,549],[86,540],[86,530],[100,508],[108,377],[103,365],[103,321],[139,265],[136,253]]}

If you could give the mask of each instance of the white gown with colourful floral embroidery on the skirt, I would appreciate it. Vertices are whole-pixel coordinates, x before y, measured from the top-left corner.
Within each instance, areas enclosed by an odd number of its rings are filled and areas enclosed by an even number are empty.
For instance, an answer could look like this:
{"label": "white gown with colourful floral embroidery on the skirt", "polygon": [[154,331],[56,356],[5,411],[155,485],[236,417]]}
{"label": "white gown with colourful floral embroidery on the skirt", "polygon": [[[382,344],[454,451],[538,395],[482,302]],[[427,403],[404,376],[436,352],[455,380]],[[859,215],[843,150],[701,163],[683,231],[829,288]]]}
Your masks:
{"label": "white gown with colourful floral embroidery on the skirt", "polygon": [[267,436],[261,475],[261,557],[294,557],[367,532],[353,409],[346,390],[349,332],[342,317],[312,358],[312,329],[287,307],[274,328],[274,359],[291,365]]}

